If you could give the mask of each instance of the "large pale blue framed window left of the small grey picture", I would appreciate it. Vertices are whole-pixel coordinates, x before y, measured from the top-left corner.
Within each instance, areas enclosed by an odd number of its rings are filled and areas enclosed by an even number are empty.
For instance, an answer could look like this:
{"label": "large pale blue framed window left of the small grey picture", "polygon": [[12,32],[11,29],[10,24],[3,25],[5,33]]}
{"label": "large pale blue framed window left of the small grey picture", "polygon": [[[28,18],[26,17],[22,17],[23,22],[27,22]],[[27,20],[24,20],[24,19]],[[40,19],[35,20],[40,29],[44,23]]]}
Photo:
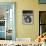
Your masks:
{"label": "large pale blue framed window left of the small grey picture", "polygon": [[15,40],[15,2],[0,2],[0,40]]}

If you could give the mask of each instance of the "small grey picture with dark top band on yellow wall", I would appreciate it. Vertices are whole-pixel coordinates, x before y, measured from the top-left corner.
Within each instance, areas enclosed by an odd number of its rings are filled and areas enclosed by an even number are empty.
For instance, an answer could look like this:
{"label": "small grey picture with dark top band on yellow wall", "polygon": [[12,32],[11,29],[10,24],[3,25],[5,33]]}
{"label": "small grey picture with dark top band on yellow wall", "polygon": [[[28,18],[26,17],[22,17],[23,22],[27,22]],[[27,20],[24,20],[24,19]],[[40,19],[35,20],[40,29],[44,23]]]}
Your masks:
{"label": "small grey picture with dark top band on yellow wall", "polygon": [[33,11],[23,10],[22,22],[23,24],[33,24]]}

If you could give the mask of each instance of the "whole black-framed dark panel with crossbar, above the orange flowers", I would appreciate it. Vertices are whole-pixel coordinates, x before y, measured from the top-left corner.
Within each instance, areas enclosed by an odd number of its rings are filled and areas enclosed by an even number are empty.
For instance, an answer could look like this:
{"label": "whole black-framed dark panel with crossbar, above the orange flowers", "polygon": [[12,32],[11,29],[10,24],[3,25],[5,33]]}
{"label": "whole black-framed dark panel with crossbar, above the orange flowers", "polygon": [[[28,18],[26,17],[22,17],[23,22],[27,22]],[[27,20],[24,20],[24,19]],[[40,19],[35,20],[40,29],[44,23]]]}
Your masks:
{"label": "whole black-framed dark panel with crossbar, above the orange flowers", "polygon": [[39,35],[46,32],[46,11],[39,11]]}

